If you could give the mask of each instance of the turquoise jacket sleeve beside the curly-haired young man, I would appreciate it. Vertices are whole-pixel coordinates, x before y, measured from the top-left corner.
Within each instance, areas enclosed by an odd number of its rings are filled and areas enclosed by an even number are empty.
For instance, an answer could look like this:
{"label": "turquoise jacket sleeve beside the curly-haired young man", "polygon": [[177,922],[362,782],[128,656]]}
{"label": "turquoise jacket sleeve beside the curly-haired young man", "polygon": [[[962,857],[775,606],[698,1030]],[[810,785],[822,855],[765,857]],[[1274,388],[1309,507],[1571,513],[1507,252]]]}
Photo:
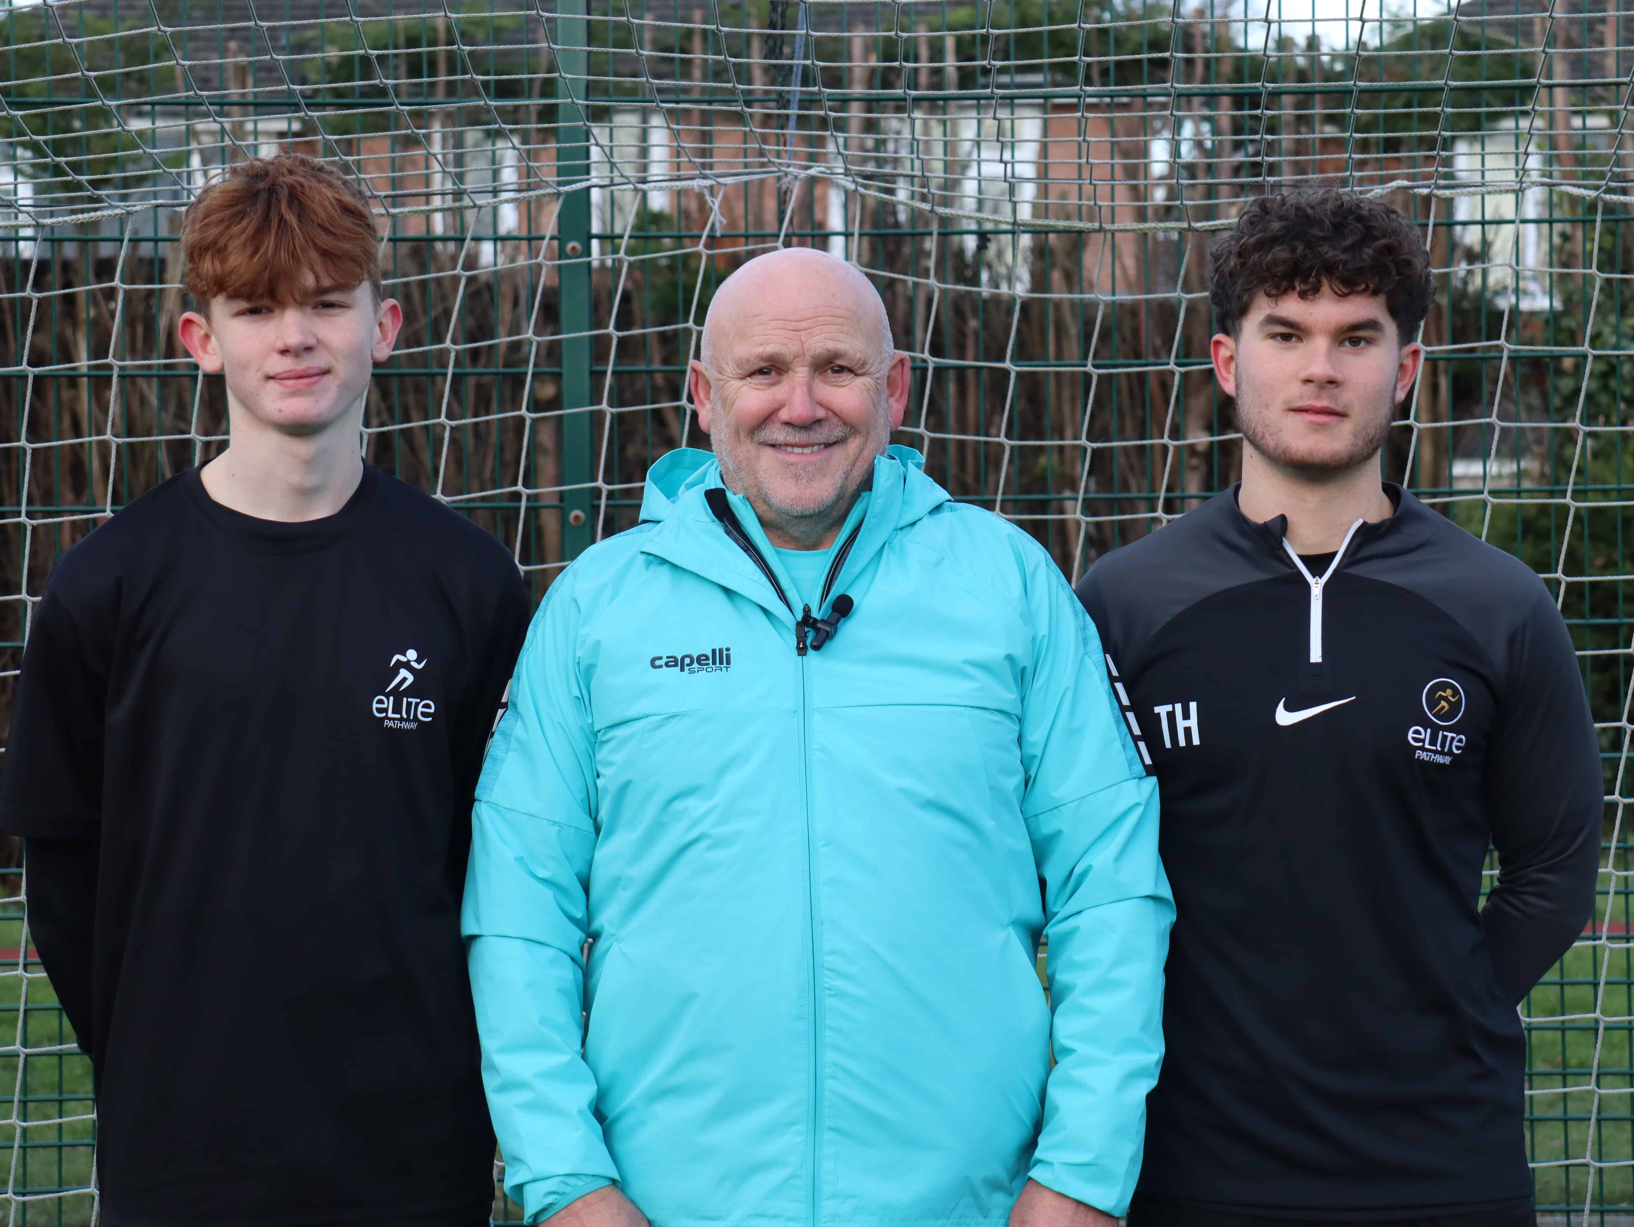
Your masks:
{"label": "turquoise jacket sleeve beside the curly-haired young man", "polygon": [[[1049,567],[1054,572],[1054,564]],[[1021,716],[1023,817],[1044,879],[1056,1067],[1031,1178],[1121,1216],[1163,1055],[1163,961],[1175,918],[1147,778],[1106,680],[1100,637],[1059,573],[1034,573]]]}

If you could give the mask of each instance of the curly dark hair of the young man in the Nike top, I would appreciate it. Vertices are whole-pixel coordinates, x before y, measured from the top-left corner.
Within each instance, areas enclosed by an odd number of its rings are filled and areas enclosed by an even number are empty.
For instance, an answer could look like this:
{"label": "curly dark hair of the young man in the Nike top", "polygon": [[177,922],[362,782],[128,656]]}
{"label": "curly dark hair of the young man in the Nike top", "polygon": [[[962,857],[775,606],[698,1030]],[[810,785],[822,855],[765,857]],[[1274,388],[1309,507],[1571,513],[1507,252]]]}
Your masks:
{"label": "curly dark hair of the young man in the Nike top", "polygon": [[1435,301],[1417,227],[1384,201],[1340,188],[1258,196],[1209,247],[1214,327],[1232,337],[1255,294],[1314,299],[1324,286],[1340,296],[1381,294],[1404,345]]}

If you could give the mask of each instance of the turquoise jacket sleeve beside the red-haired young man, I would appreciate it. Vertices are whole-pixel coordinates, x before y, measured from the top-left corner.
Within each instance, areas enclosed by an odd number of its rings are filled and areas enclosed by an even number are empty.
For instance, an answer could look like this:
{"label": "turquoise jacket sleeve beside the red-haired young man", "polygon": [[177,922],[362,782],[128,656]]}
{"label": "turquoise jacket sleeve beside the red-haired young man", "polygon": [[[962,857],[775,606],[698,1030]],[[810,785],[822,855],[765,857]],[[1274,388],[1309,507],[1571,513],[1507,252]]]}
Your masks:
{"label": "turquoise jacket sleeve beside the red-haired young man", "polygon": [[593,732],[564,573],[516,662],[477,783],[462,931],[505,1191],[538,1222],[618,1180],[582,1055]]}

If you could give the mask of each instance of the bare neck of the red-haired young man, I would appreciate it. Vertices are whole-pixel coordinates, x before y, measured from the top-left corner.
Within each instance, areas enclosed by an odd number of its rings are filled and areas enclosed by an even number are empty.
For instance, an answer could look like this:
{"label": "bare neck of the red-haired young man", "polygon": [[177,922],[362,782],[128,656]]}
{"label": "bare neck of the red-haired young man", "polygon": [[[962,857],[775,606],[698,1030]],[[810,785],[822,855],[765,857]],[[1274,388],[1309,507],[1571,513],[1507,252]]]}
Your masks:
{"label": "bare neck of the red-haired young man", "polygon": [[291,524],[322,520],[340,511],[363,480],[361,413],[346,413],[315,435],[284,435],[234,407],[229,422],[227,451],[199,472],[206,493],[222,506]]}

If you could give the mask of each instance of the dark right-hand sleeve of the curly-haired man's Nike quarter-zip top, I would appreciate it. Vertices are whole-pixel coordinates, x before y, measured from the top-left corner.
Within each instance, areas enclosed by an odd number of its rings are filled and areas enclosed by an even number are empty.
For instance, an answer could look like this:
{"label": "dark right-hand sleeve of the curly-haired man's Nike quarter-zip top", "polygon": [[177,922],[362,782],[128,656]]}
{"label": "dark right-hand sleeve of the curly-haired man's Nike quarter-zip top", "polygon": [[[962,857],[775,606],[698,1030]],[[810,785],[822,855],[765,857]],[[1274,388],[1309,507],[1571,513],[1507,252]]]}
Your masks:
{"label": "dark right-hand sleeve of the curly-haired man's Nike quarter-zip top", "polygon": [[1547,593],[1511,639],[1485,776],[1498,884],[1480,926],[1498,984],[1520,1003],[1593,912],[1605,814],[1583,678]]}

